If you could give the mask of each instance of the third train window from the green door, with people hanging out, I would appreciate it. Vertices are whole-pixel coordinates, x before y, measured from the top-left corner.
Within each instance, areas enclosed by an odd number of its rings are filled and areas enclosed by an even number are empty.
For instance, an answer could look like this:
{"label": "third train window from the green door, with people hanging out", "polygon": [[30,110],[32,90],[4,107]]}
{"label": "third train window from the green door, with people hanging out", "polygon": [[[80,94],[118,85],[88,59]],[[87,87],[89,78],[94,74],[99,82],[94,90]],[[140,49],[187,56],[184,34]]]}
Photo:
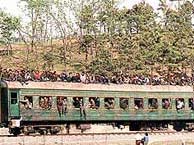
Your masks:
{"label": "third train window from the green door, with people hanging out", "polygon": [[57,109],[59,113],[67,113],[67,97],[58,96],[57,97]]}

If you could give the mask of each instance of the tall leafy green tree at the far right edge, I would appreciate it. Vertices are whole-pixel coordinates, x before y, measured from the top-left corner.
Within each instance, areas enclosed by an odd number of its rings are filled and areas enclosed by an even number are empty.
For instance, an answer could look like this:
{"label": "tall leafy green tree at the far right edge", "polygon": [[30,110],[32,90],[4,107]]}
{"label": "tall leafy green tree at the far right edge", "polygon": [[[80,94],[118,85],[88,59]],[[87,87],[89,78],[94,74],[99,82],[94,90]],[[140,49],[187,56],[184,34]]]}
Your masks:
{"label": "tall leafy green tree at the far right edge", "polygon": [[164,21],[162,35],[162,55],[166,64],[188,64],[189,53],[193,49],[192,14],[193,5],[183,3],[178,10],[162,5]]}

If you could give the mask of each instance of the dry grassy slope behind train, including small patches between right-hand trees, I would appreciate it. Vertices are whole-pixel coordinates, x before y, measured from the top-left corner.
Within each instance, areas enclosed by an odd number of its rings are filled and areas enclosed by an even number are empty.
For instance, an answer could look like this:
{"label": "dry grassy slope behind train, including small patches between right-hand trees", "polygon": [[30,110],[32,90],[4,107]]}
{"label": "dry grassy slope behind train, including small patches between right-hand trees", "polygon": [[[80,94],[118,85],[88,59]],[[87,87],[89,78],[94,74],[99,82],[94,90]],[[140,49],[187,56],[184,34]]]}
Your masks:
{"label": "dry grassy slope behind train, including small patches between right-hand trees", "polygon": [[[29,53],[29,60],[27,63],[27,47],[24,44],[13,44],[13,55],[11,56],[0,56],[0,65],[4,68],[15,68],[15,69],[22,69],[22,68],[30,68],[30,69],[49,69],[47,61],[43,59],[43,56],[45,54],[52,54],[52,60],[53,60],[53,66],[54,68],[50,67],[51,70],[57,70],[57,71],[72,71],[72,72],[80,72],[84,70],[84,65],[86,63],[85,61],[85,53],[79,52],[79,44],[76,40],[71,40],[69,44],[69,47],[67,48],[67,64],[66,66],[63,63],[63,60],[59,56],[61,55],[61,42],[54,41],[53,47],[50,47],[48,44],[45,44],[43,46],[37,47],[33,52]],[[4,48],[4,46],[0,46],[0,50]],[[117,57],[117,53],[115,51],[113,52],[113,56]],[[94,56],[93,56],[94,57]],[[88,60],[92,60],[92,55],[89,55]],[[158,66],[161,67],[161,66]],[[157,67],[155,68],[157,69]],[[181,70],[181,68],[179,69]],[[167,68],[163,68],[162,72],[168,73]],[[191,69],[187,68],[185,71],[188,72],[188,74],[191,74]],[[131,73],[138,73],[139,71],[135,71]],[[139,72],[141,73],[141,72]]]}

